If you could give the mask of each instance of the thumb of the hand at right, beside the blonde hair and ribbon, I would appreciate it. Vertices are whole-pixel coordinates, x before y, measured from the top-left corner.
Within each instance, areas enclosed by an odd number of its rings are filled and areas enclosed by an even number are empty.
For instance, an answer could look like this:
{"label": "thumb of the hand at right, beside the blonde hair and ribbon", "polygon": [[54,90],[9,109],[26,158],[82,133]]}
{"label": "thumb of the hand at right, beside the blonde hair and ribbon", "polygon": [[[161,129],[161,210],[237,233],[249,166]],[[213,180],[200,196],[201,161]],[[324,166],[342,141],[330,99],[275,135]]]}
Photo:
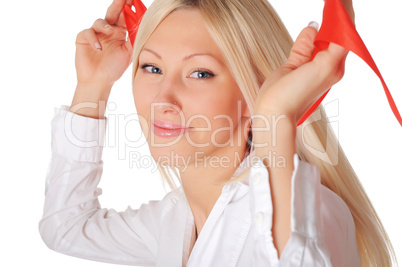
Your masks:
{"label": "thumb of the hand at right, beside the blonde hair and ribbon", "polygon": [[311,60],[317,29],[318,23],[310,22],[309,26],[300,32],[292,46],[288,60],[283,65],[284,68],[294,70]]}

